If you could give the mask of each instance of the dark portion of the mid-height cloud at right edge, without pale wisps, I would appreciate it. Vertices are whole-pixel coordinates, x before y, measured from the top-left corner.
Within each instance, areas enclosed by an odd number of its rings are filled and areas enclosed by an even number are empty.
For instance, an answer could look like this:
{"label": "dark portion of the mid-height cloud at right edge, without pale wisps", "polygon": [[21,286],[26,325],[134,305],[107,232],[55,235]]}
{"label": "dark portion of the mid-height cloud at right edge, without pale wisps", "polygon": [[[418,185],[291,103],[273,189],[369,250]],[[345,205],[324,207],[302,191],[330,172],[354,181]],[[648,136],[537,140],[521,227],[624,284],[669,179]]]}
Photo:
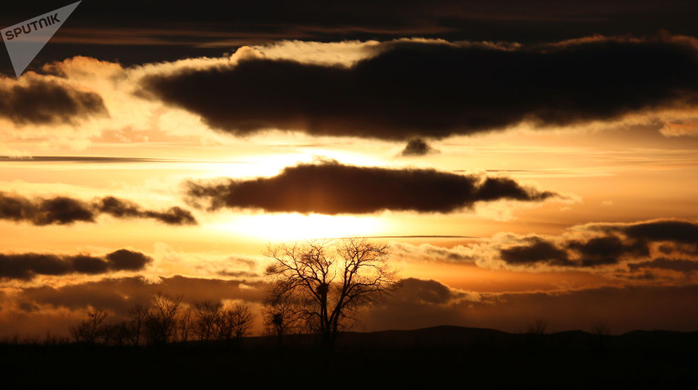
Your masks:
{"label": "dark portion of the mid-height cloud at right edge, without pale wisps", "polygon": [[584,239],[574,236],[524,237],[521,239],[523,244],[502,248],[499,255],[509,264],[562,267],[599,267],[629,261],[628,267],[634,271],[651,268],[650,264],[657,264],[656,268],[690,267],[688,263],[682,264],[683,260],[676,260],[676,263],[667,259],[637,262],[651,256],[652,243],[658,243],[656,248],[664,255],[698,254],[695,245],[698,241],[698,224],[688,220],[590,224],[580,230],[595,236],[588,237],[587,234]]}

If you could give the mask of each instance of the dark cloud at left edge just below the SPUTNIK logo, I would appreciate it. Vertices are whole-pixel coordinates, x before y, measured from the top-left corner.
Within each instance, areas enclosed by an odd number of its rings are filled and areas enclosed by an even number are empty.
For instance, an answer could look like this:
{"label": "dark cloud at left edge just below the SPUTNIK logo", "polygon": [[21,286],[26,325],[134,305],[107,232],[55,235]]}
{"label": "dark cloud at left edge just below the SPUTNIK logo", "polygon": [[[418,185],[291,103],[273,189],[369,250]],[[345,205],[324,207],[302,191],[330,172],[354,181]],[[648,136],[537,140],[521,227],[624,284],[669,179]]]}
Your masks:
{"label": "dark cloud at left edge just below the SPUTNIK logo", "polygon": [[17,125],[75,123],[107,115],[102,97],[60,82],[25,77],[26,83],[0,79],[0,117]]}

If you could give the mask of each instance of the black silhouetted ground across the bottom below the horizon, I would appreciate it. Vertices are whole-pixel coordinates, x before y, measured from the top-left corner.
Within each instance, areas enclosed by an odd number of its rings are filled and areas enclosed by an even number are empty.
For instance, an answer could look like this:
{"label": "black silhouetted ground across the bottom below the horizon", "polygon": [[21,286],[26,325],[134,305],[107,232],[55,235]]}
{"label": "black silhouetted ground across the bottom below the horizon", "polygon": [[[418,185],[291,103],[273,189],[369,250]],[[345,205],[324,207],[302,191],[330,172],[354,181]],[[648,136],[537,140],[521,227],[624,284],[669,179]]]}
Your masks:
{"label": "black silhouetted ground across the bottom below the horizon", "polygon": [[[695,387],[698,333],[513,334],[436,327],[241,345],[0,345],[0,389],[440,389]],[[683,382],[682,381],[688,381]]]}

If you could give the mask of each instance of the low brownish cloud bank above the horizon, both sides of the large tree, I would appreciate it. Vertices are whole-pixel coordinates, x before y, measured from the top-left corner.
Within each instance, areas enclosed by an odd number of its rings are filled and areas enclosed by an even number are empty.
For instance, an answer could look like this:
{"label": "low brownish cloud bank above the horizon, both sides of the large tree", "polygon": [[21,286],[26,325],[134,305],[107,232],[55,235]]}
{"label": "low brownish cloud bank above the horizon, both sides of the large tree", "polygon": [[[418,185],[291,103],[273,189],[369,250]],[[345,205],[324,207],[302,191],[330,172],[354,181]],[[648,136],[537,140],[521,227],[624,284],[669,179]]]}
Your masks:
{"label": "low brownish cloud bank above the horizon, both sides of the large tree", "polygon": [[[150,294],[183,294],[186,303],[240,300],[255,305],[265,297],[265,283],[172,276],[149,282],[140,276],[105,278],[61,287],[25,287],[0,309],[0,335],[15,331],[45,333],[39,319],[49,317],[52,333],[63,334],[61,317],[79,320],[84,310],[102,308],[116,318],[127,315]],[[535,318],[545,318],[549,331],[584,329],[604,322],[613,333],[634,329],[690,331],[698,312],[696,285],[625,286],[584,290],[521,293],[473,293],[436,280],[406,278],[400,287],[359,318],[362,329],[417,329],[452,324],[526,331]],[[10,299],[12,306],[10,306]],[[51,317],[53,316],[53,317]],[[75,320],[73,320],[75,322]],[[22,327],[24,326],[24,328]],[[21,329],[21,330],[20,330]],[[259,329],[258,329],[259,330]]]}

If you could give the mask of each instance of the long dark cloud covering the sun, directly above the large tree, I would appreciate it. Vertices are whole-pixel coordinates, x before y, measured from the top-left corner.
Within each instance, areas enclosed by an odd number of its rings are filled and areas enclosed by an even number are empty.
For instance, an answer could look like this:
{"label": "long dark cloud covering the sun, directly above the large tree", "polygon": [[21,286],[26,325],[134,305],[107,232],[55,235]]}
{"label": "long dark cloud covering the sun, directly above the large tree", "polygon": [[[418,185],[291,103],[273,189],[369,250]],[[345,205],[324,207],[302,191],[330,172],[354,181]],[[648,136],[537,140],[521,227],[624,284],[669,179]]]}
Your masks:
{"label": "long dark cloud covering the sun, directly above the large tree", "polygon": [[556,196],[525,188],[512,179],[466,176],[436,170],[392,170],[343,165],[336,161],[286,167],[274,177],[228,179],[223,183],[188,182],[190,202],[270,212],[374,213],[417,211],[448,213],[475,202],[540,202]]}

